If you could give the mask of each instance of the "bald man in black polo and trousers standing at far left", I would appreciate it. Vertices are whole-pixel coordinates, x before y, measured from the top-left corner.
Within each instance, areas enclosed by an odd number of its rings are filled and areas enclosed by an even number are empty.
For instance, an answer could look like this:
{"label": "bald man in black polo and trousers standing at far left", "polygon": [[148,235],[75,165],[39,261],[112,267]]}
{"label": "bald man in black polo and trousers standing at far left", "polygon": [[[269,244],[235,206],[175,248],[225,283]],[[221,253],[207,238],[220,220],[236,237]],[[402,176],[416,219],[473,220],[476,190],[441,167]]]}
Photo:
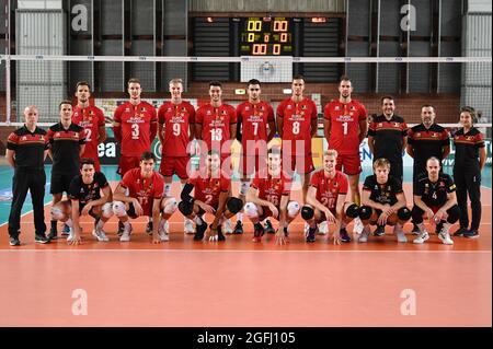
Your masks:
{"label": "bald man in black polo and trousers standing at far left", "polygon": [[45,197],[46,175],[44,162],[48,153],[48,138],[46,131],[36,126],[38,120],[37,107],[30,105],[24,109],[25,125],[12,133],[7,140],[5,158],[14,168],[12,178],[12,206],[9,216],[10,245],[20,246],[21,210],[27,190],[31,191],[34,210],[35,242],[45,244],[49,240],[45,236],[45,212],[43,199]]}

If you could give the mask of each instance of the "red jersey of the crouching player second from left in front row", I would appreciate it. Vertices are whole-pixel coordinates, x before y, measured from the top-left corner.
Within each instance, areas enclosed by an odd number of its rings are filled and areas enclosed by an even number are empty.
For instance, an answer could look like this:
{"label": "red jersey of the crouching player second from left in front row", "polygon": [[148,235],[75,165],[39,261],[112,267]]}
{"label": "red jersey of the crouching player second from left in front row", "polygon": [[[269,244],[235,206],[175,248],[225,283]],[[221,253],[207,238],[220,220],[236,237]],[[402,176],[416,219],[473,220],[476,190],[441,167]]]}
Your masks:
{"label": "red jersey of the crouching player second from left in front row", "polygon": [[164,193],[164,179],[156,171],[150,178],[142,178],[140,168],[130,170],[119,184],[128,189],[128,196],[139,200],[145,216],[152,216],[153,200],[162,198]]}

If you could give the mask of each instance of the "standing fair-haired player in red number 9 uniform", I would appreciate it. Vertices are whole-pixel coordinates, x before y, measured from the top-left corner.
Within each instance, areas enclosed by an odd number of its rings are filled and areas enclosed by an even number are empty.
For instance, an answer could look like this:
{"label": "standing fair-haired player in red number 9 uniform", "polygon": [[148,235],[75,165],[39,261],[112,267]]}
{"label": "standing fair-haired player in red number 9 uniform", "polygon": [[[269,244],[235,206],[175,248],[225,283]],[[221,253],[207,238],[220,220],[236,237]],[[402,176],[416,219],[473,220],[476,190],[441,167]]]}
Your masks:
{"label": "standing fair-haired player in red number 9 uniform", "polygon": [[[182,79],[172,79],[169,86],[171,101],[165,102],[158,110],[158,137],[162,154],[159,172],[164,176],[165,197],[171,195],[173,174],[179,176],[182,188],[188,178],[187,147],[195,138],[195,109],[192,104],[182,100]],[[151,230],[152,226],[149,228]],[[194,232],[193,223],[187,218],[185,218],[184,229],[185,233]]]}

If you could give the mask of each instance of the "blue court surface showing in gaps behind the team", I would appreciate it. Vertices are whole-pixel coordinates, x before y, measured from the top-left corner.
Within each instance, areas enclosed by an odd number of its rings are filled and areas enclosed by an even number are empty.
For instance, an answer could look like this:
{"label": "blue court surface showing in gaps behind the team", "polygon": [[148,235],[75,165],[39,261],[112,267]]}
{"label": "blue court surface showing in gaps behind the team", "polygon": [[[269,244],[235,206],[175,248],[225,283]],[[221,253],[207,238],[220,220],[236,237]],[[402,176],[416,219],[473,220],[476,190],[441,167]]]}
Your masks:
{"label": "blue court surface showing in gaps behind the team", "polygon": [[[45,203],[51,200],[51,195],[49,194],[49,178],[51,173],[51,165],[46,165],[46,195],[45,195]],[[119,175],[116,174],[115,165],[102,165],[101,166],[103,173],[106,175],[107,181],[117,182],[119,181]],[[445,167],[445,172],[451,174],[451,167]],[[370,167],[364,167],[363,173],[360,175],[360,183],[363,183],[364,178],[371,174]],[[12,176],[13,170],[8,165],[0,165],[0,224],[4,224],[9,218],[10,205],[12,199]],[[177,181],[177,177],[174,178]],[[412,168],[404,167],[404,183],[412,182]],[[492,188],[492,167],[485,166],[482,173],[482,185],[486,188]],[[31,196],[27,194],[27,198],[25,200],[24,207],[22,209],[22,213],[26,213],[31,211]]]}

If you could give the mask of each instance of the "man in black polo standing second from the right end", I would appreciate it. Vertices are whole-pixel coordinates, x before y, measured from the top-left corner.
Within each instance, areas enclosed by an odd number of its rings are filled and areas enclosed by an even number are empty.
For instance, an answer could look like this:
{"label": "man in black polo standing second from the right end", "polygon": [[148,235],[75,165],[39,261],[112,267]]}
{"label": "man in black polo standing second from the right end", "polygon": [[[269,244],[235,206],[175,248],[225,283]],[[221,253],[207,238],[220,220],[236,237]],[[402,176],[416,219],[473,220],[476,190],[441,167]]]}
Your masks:
{"label": "man in black polo standing second from the right end", "polygon": [[[412,127],[408,132],[408,154],[414,159],[413,163],[413,193],[416,189],[417,178],[426,174],[426,161],[435,156],[440,161],[450,153],[450,135],[435,124],[436,109],[425,104],[421,107],[422,124]],[[437,232],[442,226],[437,225]],[[413,226],[413,234],[420,234],[417,225]]]}

